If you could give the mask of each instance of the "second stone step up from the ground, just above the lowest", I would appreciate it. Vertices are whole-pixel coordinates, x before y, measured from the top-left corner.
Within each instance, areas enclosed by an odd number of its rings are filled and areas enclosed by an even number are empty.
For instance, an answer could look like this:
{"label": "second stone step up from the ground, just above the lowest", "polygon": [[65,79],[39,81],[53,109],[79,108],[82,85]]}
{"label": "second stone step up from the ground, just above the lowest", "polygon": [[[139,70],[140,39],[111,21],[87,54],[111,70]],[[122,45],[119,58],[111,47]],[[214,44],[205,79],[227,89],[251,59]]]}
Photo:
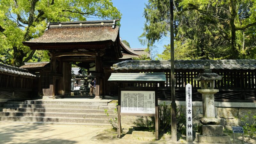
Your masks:
{"label": "second stone step up from the ground, just above the lowest", "polygon": [[[107,119],[105,114],[73,114],[73,113],[35,113],[35,112],[0,112],[0,116],[27,116],[27,117],[62,117],[62,118],[93,118]],[[109,115],[115,118],[116,115]]]}

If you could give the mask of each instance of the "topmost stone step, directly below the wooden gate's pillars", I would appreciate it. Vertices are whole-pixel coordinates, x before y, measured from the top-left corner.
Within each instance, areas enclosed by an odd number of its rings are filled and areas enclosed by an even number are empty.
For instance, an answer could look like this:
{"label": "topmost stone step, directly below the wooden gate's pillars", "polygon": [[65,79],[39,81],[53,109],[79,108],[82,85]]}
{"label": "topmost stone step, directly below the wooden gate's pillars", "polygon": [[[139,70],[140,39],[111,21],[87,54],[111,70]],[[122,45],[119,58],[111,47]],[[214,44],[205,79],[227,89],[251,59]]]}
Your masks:
{"label": "topmost stone step, directly below the wooden gate's pillars", "polygon": [[100,105],[107,106],[108,101],[47,101],[47,100],[26,100],[25,104],[48,104],[48,105]]}

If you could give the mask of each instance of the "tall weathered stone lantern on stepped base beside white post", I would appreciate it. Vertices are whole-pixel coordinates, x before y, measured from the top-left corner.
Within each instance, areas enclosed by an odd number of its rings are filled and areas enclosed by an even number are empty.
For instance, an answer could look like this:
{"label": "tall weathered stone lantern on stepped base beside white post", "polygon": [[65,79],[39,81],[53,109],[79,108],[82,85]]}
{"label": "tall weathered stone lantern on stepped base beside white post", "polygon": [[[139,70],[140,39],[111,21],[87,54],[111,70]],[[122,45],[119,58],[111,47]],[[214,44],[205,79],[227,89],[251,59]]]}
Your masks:
{"label": "tall weathered stone lantern on stepped base beside white post", "polygon": [[214,80],[221,80],[222,76],[212,73],[208,62],[204,68],[204,73],[194,78],[201,81],[201,89],[197,91],[202,93],[203,99],[203,117],[199,118],[200,123],[197,124],[196,139],[198,142],[230,143],[230,138],[223,135],[220,119],[215,118],[214,94],[219,90],[214,89]]}

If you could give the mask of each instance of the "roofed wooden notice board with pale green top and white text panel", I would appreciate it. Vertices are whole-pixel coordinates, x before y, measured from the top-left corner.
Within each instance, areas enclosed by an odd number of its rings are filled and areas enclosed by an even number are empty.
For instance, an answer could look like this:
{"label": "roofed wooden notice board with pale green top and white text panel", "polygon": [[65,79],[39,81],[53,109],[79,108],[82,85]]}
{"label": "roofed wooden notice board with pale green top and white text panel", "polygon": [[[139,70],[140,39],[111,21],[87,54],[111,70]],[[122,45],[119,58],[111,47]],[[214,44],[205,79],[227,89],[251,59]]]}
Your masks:
{"label": "roofed wooden notice board with pale green top and white text panel", "polygon": [[[117,137],[121,138],[121,116],[155,116],[156,140],[159,139],[158,83],[165,82],[165,73],[112,73],[108,81],[118,88]],[[134,84],[135,83],[135,84]],[[151,83],[145,86],[143,83]],[[132,84],[133,86],[128,86]],[[136,85],[136,86],[134,86]]]}

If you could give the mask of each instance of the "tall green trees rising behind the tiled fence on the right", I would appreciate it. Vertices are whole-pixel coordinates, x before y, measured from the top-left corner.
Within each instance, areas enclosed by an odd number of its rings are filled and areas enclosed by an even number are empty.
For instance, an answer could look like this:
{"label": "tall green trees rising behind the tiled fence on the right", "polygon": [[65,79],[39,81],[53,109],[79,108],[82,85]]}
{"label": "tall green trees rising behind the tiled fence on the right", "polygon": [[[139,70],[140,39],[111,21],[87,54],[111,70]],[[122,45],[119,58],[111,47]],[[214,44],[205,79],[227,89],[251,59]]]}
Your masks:
{"label": "tall green trees rising behind the tiled fence on the right", "polygon": [[[175,0],[175,59],[255,59],[256,0]],[[139,37],[153,45],[170,35],[169,0],[148,0]],[[170,59],[170,45],[160,59]]]}

